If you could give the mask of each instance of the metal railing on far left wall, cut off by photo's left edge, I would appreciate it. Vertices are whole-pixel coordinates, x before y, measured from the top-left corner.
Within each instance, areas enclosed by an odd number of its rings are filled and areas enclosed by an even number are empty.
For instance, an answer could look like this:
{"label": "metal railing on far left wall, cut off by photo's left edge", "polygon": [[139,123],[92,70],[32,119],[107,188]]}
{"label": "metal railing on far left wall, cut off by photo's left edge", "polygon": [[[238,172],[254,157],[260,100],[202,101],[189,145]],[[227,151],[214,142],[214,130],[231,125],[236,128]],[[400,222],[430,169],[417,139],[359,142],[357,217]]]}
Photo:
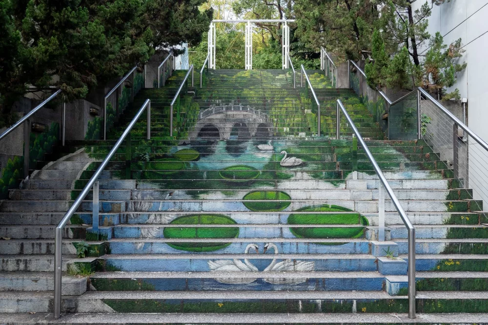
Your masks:
{"label": "metal railing on far left wall, cut off by photo's left edge", "polygon": [[[7,130],[3,131],[2,134],[0,134],[0,140],[3,139],[5,136],[10,134],[12,131],[17,129],[22,123],[25,122],[24,125],[24,174],[23,178],[27,178],[29,176],[29,161],[30,161],[30,132],[31,132],[31,122],[29,118],[36,114],[42,107],[44,107],[48,102],[51,101],[54,97],[58,96],[58,94],[61,93],[61,89],[57,90],[54,94],[51,96],[47,97],[41,104],[37,105],[32,111],[24,115],[20,120],[18,120],[14,125],[12,125],[10,128]],[[62,101],[62,111],[61,111],[61,120],[62,120],[62,131],[61,131],[61,142],[62,145],[64,146],[64,121],[65,121],[65,115],[66,115],[66,102],[65,99],[63,98]]]}

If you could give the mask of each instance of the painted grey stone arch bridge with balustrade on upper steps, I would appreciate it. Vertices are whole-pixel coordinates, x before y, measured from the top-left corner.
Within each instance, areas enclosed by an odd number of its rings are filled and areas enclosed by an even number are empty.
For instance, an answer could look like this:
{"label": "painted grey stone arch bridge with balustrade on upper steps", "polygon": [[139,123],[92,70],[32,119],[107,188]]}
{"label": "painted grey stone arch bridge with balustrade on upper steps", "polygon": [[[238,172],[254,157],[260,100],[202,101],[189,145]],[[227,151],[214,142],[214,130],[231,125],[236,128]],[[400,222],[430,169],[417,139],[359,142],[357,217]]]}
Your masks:
{"label": "painted grey stone arch bridge with balustrade on upper steps", "polygon": [[190,137],[261,137],[273,135],[273,123],[268,115],[242,104],[212,105],[200,112]]}

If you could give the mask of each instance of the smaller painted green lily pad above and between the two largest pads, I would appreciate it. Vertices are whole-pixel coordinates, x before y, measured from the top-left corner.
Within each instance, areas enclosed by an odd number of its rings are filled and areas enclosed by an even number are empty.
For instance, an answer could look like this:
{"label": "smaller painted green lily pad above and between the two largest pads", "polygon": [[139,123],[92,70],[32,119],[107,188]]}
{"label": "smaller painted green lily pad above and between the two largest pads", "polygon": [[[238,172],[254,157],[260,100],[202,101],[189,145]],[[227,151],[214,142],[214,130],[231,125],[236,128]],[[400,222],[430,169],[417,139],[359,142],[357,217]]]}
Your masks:
{"label": "smaller painted green lily pad above and between the two largest pads", "polygon": [[[291,197],[283,191],[253,191],[245,194],[243,200],[244,206],[252,211],[281,211],[291,204]],[[253,202],[255,200],[270,202]]]}

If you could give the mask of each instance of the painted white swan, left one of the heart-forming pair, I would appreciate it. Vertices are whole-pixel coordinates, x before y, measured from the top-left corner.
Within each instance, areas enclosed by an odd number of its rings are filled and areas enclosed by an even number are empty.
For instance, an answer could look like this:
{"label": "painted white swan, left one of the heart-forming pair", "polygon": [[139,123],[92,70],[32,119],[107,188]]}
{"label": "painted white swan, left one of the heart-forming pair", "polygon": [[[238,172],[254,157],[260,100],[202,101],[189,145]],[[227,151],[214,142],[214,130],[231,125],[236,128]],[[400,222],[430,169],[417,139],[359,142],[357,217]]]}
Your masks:
{"label": "painted white swan, left one of the heart-forming pair", "polygon": [[[256,244],[249,244],[244,250],[244,254],[249,254],[250,249],[255,249],[256,253],[259,254],[258,246]],[[208,261],[208,267],[211,272],[242,272],[242,271],[254,271],[257,272],[256,268],[248,259],[244,259],[244,263],[241,260],[217,260]],[[215,278],[216,281],[226,284],[249,284],[256,279],[252,278]]]}

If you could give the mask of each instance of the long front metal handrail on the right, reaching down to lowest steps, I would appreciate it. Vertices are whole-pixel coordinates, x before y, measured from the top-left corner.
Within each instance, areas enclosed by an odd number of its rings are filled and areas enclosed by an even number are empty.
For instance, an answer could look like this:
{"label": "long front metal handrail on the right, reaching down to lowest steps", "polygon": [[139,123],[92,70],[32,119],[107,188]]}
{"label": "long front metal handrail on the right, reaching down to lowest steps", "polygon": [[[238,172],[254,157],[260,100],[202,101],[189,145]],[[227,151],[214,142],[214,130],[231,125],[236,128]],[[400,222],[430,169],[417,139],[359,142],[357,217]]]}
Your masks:
{"label": "long front metal handrail on the right, reaching down to lowest steps", "polygon": [[[351,117],[349,114],[347,114],[346,108],[344,107],[343,103],[341,102],[340,99],[337,99],[337,129],[336,129],[336,137],[337,139],[340,138],[340,114],[341,111],[343,112],[344,116],[346,117],[347,122],[349,123],[349,126],[351,127],[353,134],[356,135],[359,144],[363,147],[363,150],[366,153],[366,156],[368,157],[369,161],[373,165],[373,169],[378,175],[378,178],[380,179],[380,186],[378,187],[379,189],[379,198],[378,198],[378,216],[379,216],[379,227],[378,227],[378,237],[380,241],[385,240],[385,193],[383,191],[383,187],[390,196],[391,201],[393,202],[393,205],[395,206],[396,210],[398,211],[398,214],[400,214],[400,217],[402,218],[403,223],[405,224],[405,227],[407,227],[408,231],[408,317],[409,318],[415,318],[415,228],[413,227],[412,223],[410,222],[410,219],[408,219],[407,213],[405,213],[405,210],[402,207],[402,204],[396,197],[395,193],[391,189],[388,181],[386,180],[385,175],[381,171],[380,167],[378,166],[378,163],[374,159],[373,155],[369,151],[368,147],[366,146],[366,143],[359,133],[358,129],[356,128],[356,125],[352,121]],[[382,220],[383,219],[383,220]]]}

